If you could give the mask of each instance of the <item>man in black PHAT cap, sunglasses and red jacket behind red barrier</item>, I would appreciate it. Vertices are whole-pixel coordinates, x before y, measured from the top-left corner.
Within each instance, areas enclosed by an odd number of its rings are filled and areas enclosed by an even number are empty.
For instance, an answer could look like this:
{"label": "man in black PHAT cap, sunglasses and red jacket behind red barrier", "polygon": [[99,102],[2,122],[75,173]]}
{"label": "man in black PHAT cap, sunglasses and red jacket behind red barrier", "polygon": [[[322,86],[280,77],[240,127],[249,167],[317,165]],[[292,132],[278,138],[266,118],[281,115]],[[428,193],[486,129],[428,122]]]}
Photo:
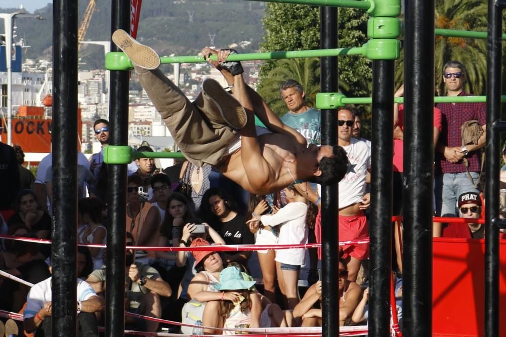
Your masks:
{"label": "man in black PHAT cap, sunglasses and red jacket behind red barrier", "polygon": [[[466,192],[457,199],[458,214],[460,218],[480,219],[482,200],[478,193]],[[466,226],[467,225],[467,226]],[[451,223],[443,229],[443,237],[459,237],[465,239],[483,239],[485,226],[477,223]]]}

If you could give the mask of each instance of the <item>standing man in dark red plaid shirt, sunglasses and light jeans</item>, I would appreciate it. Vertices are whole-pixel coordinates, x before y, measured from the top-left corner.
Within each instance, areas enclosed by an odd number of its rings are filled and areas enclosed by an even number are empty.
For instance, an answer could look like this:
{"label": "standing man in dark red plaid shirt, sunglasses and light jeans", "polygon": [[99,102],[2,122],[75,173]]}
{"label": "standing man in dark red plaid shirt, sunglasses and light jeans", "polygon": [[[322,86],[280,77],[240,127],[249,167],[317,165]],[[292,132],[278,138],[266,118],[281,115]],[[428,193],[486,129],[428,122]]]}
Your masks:
{"label": "standing man in dark red plaid shirt, sunglasses and light jeans", "polygon": [[[443,81],[447,96],[469,96],[462,91],[466,81],[466,68],[458,61],[449,61],[443,67]],[[443,130],[436,147],[435,193],[436,213],[438,216],[458,216],[456,198],[466,192],[479,193],[475,187],[481,170],[480,148],[485,145],[485,132],[478,140],[478,144],[462,146],[460,127],[468,120],[478,120],[485,131],[484,103],[439,103]],[[473,182],[466,172],[462,161],[469,161],[469,172]]]}

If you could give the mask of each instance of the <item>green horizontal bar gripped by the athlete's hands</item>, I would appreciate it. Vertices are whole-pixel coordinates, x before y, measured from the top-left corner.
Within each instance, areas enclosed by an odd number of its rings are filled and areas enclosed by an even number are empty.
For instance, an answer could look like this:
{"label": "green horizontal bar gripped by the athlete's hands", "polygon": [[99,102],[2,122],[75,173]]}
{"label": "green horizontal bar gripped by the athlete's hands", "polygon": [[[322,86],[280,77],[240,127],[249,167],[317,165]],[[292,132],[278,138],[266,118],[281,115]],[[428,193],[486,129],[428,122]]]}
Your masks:
{"label": "green horizontal bar gripped by the athlete's hands", "polygon": [[[295,59],[304,57],[327,57],[339,55],[362,55],[363,47],[354,48],[335,48],[335,49],[315,49],[315,50],[299,50],[291,52],[266,52],[266,53],[247,53],[232,54],[227,57],[227,61],[255,61],[255,60],[272,60],[272,59]],[[216,56],[210,57],[216,60]],[[160,58],[161,63],[199,63],[207,62],[201,56],[165,56]]]}

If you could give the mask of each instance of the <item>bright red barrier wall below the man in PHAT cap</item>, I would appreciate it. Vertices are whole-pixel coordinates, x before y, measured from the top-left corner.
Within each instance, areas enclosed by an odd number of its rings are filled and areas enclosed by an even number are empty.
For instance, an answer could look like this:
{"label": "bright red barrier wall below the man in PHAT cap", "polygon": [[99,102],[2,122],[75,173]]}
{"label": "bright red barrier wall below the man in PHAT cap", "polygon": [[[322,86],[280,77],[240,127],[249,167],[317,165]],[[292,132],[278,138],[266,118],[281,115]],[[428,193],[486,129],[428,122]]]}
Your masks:
{"label": "bright red barrier wall below the man in PHAT cap", "polygon": [[[499,310],[506,317],[506,240],[499,249]],[[434,238],[434,336],[484,336],[484,263],[485,240]],[[500,336],[506,336],[502,322]]]}

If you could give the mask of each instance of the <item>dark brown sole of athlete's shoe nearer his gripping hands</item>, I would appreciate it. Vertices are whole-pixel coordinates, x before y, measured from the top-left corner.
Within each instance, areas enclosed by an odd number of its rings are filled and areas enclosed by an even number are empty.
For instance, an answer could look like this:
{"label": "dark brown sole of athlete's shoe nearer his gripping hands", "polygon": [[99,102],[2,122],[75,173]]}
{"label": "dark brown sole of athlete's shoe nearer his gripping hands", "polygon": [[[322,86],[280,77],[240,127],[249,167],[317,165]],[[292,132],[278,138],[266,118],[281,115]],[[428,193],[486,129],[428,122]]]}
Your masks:
{"label": "dark brown sole of athlete's shoe nearer his gripping hands", "polygon": [[[206,79],[202,83],[202,91],[215,103],[223,119],[225,119],[232,128],[237,130],[244,128],[247,121],[244,108],[234,97],[222,88],[220,83],[212,79]],[[224,111],[222,106],[229,107],[229,109]]]}

